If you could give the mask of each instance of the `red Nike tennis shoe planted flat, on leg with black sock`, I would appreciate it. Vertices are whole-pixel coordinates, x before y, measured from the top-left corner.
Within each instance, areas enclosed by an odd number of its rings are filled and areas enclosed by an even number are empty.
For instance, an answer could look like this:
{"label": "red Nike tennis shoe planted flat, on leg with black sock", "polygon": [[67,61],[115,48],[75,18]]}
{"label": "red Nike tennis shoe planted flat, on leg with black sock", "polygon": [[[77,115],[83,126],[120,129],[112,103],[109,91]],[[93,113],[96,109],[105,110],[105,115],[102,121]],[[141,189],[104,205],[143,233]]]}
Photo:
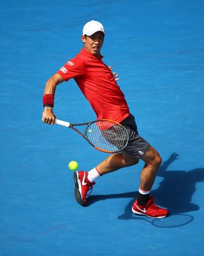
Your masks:
{"label": "red Nike tennis shoe planted flat, on leg with black sock", "polygon": [[132,212],[139,215],[146,215],[150,218],[164,218],[168,215],[168,210],[154,204],[154,199],[151,196],[146,205],[139,205],[136,201],[132,205]]}

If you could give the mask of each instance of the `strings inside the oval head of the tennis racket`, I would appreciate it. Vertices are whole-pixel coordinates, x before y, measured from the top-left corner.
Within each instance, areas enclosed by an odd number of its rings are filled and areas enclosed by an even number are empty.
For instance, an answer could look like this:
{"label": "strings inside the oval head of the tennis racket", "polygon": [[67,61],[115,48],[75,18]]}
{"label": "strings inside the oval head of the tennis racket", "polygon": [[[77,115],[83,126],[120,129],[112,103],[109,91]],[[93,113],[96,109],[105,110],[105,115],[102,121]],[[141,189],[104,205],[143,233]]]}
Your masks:
{"label": "strings inside the oval head of the tennis racket", "polygon": [[109,152],[122,150],[128,140],[123,126],[104,120],[88,125],[86,136],[95,147]]}

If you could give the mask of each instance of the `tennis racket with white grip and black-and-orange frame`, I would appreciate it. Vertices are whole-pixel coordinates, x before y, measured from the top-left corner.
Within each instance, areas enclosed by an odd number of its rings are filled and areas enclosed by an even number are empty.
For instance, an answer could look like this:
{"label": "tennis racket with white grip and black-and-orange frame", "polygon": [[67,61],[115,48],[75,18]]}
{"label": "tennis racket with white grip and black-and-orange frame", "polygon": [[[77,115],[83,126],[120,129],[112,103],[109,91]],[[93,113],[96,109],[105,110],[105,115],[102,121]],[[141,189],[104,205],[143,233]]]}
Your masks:
{"label": "tennis racket with white grip and black-and-orange frame", "polygon": [[[55,124],[71,128],[80,134],[90,145],[106,153],[120,152],[127,146],[129,136],[123,125],[108,119],[100,119],[82,124],[70,124],[55,120]],[[82,132],[75,127],[83,127]]]}

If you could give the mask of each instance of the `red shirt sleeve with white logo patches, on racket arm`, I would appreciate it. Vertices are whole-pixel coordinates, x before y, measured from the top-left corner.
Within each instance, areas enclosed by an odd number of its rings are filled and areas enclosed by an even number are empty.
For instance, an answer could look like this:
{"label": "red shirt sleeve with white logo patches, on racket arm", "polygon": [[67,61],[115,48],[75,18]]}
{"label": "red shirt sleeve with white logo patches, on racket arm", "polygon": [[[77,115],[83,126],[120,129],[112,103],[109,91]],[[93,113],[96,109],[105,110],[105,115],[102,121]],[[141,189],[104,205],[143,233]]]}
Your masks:
{"label": "red shirt sleeve with white logo patches, on racket arm", "polygon": [[84,65],[80,57],[75,56],[72,60],[67,61],[57,72],[65,81],[71,78],[84,75]]}

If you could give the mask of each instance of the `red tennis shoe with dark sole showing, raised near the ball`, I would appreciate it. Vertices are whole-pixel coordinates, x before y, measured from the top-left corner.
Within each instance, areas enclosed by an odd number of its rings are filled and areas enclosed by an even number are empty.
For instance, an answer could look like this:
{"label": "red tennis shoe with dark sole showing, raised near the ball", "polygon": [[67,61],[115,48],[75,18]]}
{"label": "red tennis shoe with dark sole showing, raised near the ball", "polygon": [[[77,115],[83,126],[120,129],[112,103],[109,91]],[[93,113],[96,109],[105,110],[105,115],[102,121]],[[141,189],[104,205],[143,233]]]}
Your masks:
{"label": "red tennis shoe with dark sole showing, raised near the ball", "polygon": [[[75,199],[82,206],[86,206],[86,196],[91,194],[95,182],[91,183],[90,180],[88,180],[88,172],[74,172],[74,183]],[[87,195],[88,191],[90,191],[90,193]]]}

